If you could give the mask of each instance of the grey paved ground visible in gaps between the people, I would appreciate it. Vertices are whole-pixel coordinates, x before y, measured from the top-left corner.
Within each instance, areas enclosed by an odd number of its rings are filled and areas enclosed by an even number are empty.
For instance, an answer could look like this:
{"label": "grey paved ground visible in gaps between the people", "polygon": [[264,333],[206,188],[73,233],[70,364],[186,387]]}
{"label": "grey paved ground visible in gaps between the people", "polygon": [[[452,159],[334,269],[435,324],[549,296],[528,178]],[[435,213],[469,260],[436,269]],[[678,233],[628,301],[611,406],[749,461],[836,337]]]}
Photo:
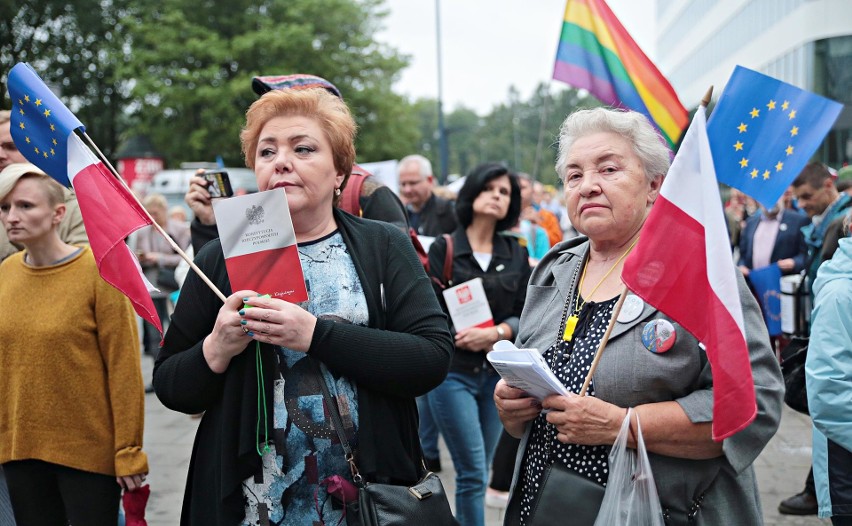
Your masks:
{"label": "grey paved ground visible in gaps between the people", "polygon": [[[146,378],[151,362],[143,359]],[[145,399],[145,450],[150,460],[151,499],[148,503],[149,526],[174,526],[180,517],[183,488],[189,467],[189,454],[198,420],[175,413],[160,404],[155,395]],[[811,430],[806,416],[785,408],[781,428],[757,459],[758,482],[767,526],[817,526],[830,521],[816,517],[780,515],[778,502],[801,491],[810,465]],[[446,448],[442,449],[441,478],[452,495],[455,472]],[[452,502],[452,499],[451,499]],[[502,510],[487,508],[487,526],[502,524]]]}

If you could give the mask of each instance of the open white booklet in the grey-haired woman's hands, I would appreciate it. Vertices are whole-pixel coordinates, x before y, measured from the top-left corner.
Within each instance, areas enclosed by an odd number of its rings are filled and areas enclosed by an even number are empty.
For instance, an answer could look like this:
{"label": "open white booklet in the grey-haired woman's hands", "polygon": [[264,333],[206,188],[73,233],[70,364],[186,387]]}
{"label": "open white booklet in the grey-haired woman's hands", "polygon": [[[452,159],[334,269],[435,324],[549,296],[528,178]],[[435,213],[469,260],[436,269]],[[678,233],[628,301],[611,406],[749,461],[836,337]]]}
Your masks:
{"label": "open white booklet in the grey-haired woman's hands", "polygon": [[518,349],[512,342],[501,340],[486,358],[507,384],[537,400],[552,394],[569,394],[538,349]]}

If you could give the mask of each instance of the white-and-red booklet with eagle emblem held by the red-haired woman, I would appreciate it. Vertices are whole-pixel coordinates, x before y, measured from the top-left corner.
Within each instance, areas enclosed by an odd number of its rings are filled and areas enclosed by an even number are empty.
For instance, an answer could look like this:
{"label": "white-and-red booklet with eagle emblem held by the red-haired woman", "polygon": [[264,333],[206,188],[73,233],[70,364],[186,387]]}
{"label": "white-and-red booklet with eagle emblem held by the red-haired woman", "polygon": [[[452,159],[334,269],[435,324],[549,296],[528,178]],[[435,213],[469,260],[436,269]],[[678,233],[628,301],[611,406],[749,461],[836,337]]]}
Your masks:
{"label": "white-and-red booklet with eagle emblem held by the red-haired woman", "polygon": [[296,233],[283,188],[213,203],[231,290],[291,303],[308,299]]}

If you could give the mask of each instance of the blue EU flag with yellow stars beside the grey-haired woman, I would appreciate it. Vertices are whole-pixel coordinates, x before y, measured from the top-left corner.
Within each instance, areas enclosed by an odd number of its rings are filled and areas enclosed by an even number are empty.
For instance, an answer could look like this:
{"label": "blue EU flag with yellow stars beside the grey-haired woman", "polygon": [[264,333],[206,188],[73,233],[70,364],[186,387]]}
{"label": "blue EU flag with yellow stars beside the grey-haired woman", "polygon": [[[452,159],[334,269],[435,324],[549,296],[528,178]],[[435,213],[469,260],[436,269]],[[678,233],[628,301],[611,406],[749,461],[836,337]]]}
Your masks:
{"label": "blue EU flag with yellow stars beside the grey-haired woman", "polygon": [[772,208],[842,108],[833,100],[737,66],[707,121],[716,178]]}

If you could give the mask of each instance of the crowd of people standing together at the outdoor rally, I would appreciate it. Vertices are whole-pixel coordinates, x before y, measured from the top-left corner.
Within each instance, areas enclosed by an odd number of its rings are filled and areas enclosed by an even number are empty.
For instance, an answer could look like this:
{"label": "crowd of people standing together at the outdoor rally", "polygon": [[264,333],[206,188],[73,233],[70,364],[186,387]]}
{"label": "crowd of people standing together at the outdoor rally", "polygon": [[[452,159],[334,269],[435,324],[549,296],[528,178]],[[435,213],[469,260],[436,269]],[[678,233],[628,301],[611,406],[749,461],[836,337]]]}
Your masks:
{"label": "crowd of people standing together at the outdoor rally", "polygon": [[[636,296],[611,321],[624,261],[670,164],[644,116],[568,115],[559,197],[500,163],[474,167],[447,194],[418,154],[398,163],[397,196],[355,164],[356,123],[333,84],[281,75],[252,87],[259,98],[238,139],[258,189],[287,193],[309,299],[233,290],[214,198],[198,174],[186,194],[191,222],[170,217],[162,196],[143,205],[224,301],[180,270],[158,232],[129,239],[159,289],[162,342],[147,324],[140,335],[129,301],[99,278],[73,192],[26,163],[0,113],[0,508],[11,505],[19,525],[116,524],[122,492],[148,472],[146,390],[201,415],[181,524],[354,524],[332,486],[414,485],[441,471],[440,436],[463,526],[484,526],[486,503],[506,508],[507,525],[593,522],[600,499],[578,495],[603,494],[626,418],[628,447],[638,447],[637,433],[644,440],[666,524],[760,524],[753,465],[780,423],[786,342],[768,332],[749,277],[773,264],[803,274],[814,305],[814,469],[779,509],[852,524],[852,195],[838,190],[843,172],[809,164],[771,209],[735,192],[726,203],[758,412],[717,442],[701,343]],[[492,319],[457,325],[445,292],[473,280]],[[21,308],[34,293],[51,301]],[[649,327],[666,336],[649,340]],[[587,382],[587,396],[542,400],[511,386],[486,358],[501,340],[539,349],[571,393]],[[136,349],[156,356],[147,389]],[[564,507],[548,508],[546,488]]]}

